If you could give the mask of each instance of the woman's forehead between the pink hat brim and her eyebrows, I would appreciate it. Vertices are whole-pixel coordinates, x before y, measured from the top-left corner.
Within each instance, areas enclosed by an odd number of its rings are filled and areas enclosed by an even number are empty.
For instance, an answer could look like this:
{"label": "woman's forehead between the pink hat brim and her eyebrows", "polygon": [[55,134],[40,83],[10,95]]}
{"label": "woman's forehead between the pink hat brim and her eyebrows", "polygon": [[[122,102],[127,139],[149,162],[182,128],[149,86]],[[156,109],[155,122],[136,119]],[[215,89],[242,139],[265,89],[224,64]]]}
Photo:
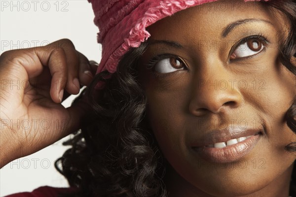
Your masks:
{"label": "woman's forehead between the pink hat brim and her eyebrows", "polygon": [[[270,21],[276,29],[282,28],[281,23],[275,20],[276,13],[260,2],[219,0],[177,12],[152,24],[147,30],[151,38],[190,42],[196,36],[199,39],[220,36],[228,24],[244,19]],[[252,23],[253,27],[260,28],[261,25],[259,22]]]}

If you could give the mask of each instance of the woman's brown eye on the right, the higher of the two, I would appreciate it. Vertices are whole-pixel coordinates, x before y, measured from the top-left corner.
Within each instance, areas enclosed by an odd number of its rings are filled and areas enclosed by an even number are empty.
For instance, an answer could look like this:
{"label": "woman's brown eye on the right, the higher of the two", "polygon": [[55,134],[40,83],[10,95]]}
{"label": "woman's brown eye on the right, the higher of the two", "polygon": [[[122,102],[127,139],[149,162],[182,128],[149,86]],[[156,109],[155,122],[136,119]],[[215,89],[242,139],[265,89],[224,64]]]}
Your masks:
{"label": "woman's brown eye on the right, the higher of the two", "polygon": [[231,54],[230,60],[245,58],[260,53],[264,49],[263,41],[259,39],[248,39],[239,45]]}

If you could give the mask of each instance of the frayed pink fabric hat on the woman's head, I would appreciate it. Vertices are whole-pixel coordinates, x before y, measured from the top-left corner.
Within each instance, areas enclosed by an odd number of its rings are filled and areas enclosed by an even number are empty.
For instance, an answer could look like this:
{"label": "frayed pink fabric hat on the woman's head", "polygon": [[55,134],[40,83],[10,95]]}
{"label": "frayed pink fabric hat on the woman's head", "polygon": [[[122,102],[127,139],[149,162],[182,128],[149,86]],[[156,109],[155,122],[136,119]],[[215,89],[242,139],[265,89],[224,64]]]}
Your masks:
{"label": "frayed pink fabric hat on the woman's head", "polygon": [[[217,0],[88,0],[99,27],[102,60],[97,73],[116,71],[119,59],[130,48],[140,46],[150,34],[149,25],[180,10]],[[255,1],[255,0],[245,0]],[[265,0],[267,1],[267,0]]]}

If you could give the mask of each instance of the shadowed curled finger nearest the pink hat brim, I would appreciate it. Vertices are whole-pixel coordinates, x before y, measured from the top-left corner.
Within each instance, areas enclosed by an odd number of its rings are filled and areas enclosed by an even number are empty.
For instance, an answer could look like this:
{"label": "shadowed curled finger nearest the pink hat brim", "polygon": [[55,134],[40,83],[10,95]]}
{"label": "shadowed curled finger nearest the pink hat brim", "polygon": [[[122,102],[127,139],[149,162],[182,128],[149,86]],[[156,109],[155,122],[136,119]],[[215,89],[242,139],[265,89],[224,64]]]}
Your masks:
{"label": "shadowed curled finger nearest the pink hat brim", "polygon": [[88,59],[80,52],[77,51],[79,55],[79,81],[82,86],[88,86],[93,79],[93,74],[90,69],[90,64]]}

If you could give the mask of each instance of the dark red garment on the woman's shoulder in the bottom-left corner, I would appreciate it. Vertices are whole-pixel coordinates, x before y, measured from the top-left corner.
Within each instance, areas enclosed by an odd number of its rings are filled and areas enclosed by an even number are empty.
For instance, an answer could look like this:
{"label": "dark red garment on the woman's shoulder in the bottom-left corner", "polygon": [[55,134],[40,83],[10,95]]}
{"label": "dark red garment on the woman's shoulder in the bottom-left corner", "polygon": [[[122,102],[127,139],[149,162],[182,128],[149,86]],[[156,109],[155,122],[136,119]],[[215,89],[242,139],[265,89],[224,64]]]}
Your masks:
{"label": "dark red garment on the woman's shoulder in the bottom-left corner", "polygon": [[35,189],[33,192],[22,192],[8,195],[6,197],[58,197],[60,194],[72,194],[75,191],[73,188],[53,188],[43,186]]}

